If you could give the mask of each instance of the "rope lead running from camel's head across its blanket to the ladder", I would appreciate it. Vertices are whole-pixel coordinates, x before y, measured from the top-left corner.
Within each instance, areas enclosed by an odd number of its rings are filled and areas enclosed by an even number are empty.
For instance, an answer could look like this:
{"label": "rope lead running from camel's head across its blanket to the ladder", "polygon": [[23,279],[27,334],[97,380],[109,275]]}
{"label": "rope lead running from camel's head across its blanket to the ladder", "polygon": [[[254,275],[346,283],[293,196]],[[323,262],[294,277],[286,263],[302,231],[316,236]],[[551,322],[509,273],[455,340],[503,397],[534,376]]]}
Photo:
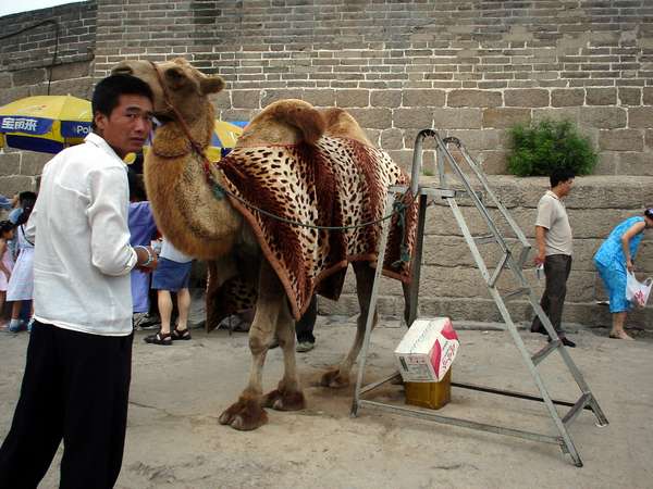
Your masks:
{"label": "rope lead running from camel's head across its blanket to the ladder", "polygon": [[[235,193],[229,191],[226,188],[224,188],[222,185],[220,185],[218,181],[215,181],[215,178],[213,177],[213,174],[211,173],[211,164],[212,164],[211,161],[205,154],[202,146],[193,138],[193,135],[190,134],[190,128],[188,127],[188,124],[186,124],[186,121],[182,116],[182,113],[172,104],[172,101],[171,101],[172,99],[170,97],[170,92],[168,91],[168,87],[165,86],[165,83],[163,80],[163,75],[161,75],[159,67],[156,65],[156,63],[153,61],[150,61],[149,63],[152,65],[152,68],[155,70],[155,73],[157,74],[157,79],[159,80],[159,85],[161,86],[161,90],[163,91],[163,102],[165,102],[165,105],[168,106],[168,109],[170,109],[174,113],[176,121],[180,124],[180,127],[182,128],[184,135],[186,136],[186,139],[188,139],[188,143],[190,145],[190,150],[194,151],[195,154],[201,160],[201,165],[202,165],[202,170],[205,173],[205,177],[207,179],[207,183],[211,186],[213,195],[215,196],[217,199],[223,199],[224,196],[227,195],[229,197],[242,202],[249,209],[260,212],[261,214],[263,214],[268,217],[271,217],[273,220],[276,220],[282,223],[289,224],[293,226],[307,227],[307,228],[311,228],[311,229],[324,229],[324,230],[357,229],[357,228],[361,228],[361,227],[373,226],[375,224],[380,224],[386,220],[392,218],[395,214],[397,214],[397,217],[398,217],[398,223],[397,223],[398,226],[401,228],[405,228],[406,209],[408,208],[408,204],[404,203],[403,199],[395,200],[395,202],[393,204],[393,210],[390,214],[384,215],[374,221],[369,221],[369,222],[362,223],[362,224],[354,224],[354,225],[349,225],[349,226],[316,226],[312,224],[300,223],[298,221],[288,220],[283,216],[273,214],[271,212],[266,211],[264,209],[257,208],[251,202],[248,202],[247,200],[243,199],[241,196],[236,196]],[[152,146],[152,151],[153,151],[153,146]],[[157,154],[157,155],[162,156],[160,154]],[[163,156],[163,158],[165,158],[165,156]],[[409,190],[407,190],[407,191],[409,191]],[[401,258],[402,262],[407,262],[410,259],[410,256],[408,254],[408,248],[405,246],[405,235],[406,235],[405,233],[402,233],[402,236],[403,236],[403,238],[402,238],[402,258]]]}

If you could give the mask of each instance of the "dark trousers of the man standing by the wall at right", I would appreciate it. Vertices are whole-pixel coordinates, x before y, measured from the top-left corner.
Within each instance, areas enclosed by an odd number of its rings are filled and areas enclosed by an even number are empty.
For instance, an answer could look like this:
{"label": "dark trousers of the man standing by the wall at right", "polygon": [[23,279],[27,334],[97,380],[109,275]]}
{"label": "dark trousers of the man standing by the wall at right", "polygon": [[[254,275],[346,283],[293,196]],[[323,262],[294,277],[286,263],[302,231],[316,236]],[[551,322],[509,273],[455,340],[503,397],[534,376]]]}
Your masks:
{"label": "dark trousers of the man standing by the wall at right", "polygon": [[[544,260],[546,286],[540,305],[549,316],[558,336],[564,336],[562,319],[565,296],[567,294],[567,278],[571,272],[571,256],[568,254],[551,254]],[[531,331],[543,331],[544,326],[535,315]],[[563,334],[563,335],[560,335]]]}

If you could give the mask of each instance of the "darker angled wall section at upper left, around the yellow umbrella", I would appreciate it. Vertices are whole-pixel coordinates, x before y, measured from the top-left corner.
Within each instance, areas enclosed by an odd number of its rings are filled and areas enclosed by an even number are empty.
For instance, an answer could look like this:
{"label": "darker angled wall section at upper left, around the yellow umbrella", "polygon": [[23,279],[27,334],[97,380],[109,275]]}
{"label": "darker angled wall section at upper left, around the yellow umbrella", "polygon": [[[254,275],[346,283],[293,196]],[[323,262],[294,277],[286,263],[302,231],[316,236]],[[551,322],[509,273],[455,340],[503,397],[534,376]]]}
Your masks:
{"label": "darker angled wall section at upper left, around the yellow umbrella", "polygon": [[[79,2],[0,17],[0,105],[47,93],[90,98],[96,16],[95,2]],[[0,152],[0,193],[34,190],[50,158]]]}

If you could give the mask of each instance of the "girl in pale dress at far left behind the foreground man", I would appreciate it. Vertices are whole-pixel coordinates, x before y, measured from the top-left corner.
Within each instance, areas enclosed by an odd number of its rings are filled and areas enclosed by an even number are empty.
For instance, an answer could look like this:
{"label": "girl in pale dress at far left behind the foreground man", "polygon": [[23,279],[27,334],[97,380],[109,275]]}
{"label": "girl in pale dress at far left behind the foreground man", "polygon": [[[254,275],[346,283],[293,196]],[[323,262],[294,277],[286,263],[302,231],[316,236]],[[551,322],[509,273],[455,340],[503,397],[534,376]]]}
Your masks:
{"label": "girl in pale dress at far left behind the foreground man", "polygon": [[[23,302],[32,301],[34,297],[34,242],[25,233],[25,224],[32,215],[35,201],[36,199],[22,200],[22,212],[19,214],[16,221],[15,234],[17,235],[19,256],[16,258],[11,278],[7,286],[7,301],[13,302],[11,306],[11,321],[8,327],[11,333],[19,333],[25,328],[25,324],[20,318],[21,310]],[[27,306],[29,306],[29,319],[26,327],[28,331],[32,331],[34,308],[29,305],[29,302],[27,302]]]}

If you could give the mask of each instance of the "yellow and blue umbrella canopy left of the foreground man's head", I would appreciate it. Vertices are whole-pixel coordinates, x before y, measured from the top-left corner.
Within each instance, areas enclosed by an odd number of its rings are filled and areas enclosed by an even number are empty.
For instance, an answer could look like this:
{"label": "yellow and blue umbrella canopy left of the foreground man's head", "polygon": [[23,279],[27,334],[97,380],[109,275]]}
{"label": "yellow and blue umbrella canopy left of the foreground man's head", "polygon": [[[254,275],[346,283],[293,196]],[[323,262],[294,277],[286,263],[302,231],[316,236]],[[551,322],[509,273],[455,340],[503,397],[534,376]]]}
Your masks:
{"label": "yellow and blue umbrella canopy left of the foreground man's head", "polygon": [[36,96],[0,108],[0,143],[57,153],[90,131],[90,102],[72,96]]}

